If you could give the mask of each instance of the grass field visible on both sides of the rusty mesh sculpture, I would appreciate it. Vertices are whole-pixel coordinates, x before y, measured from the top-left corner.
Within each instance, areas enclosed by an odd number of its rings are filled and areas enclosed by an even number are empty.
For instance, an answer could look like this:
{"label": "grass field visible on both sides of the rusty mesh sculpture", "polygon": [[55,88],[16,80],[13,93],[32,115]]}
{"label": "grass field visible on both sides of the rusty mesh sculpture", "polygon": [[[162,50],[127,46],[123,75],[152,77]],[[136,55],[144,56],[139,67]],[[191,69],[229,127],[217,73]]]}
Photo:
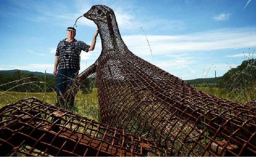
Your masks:
{"label": "grass field visible on both sides of the rusty mesh sculpture", "polygon": [[[250,90],[241,90],[237,92],[229,92],[227,90],[222,90],[214,87],[196,87],[198,90],[211,94],[213,96],[222,97],[224,99],[236,101],[238,103],[246,103],[255,99],[256,89]],[[45,93],[30,93],[30,92],[0,92],[0,108],[4,105],[15,103],[21,99],[27,97],[36,97],[41,101],[45,99]],[[47,92],[46,93],[46,102],[52,105],[56,104],[56,92]],[[93,88],[91,94],[83,94],[82,91],[79,91],[76,94],[74,106],[70,108],[72,112],[76,114],[83,115],[89,119],[94,119],[100,121],[100,109],[98,103],[98,93],[97,88]]]}

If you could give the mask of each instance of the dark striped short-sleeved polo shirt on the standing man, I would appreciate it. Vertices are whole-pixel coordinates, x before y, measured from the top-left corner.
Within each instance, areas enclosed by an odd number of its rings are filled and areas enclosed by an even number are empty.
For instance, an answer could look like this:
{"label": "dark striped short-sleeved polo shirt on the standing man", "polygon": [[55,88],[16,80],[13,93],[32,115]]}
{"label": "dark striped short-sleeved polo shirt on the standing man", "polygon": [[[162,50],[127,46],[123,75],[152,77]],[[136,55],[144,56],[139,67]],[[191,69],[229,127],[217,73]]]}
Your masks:
{"label": "dark striped short-sleeved polo shirt on the standing man", "polygon": [[59,56],[58,70],[80,70],[80,53],[82,50],[88,52],[90,46],[76,39],[69,43],[66,39],[61,40],[56,49],[55,56]]}

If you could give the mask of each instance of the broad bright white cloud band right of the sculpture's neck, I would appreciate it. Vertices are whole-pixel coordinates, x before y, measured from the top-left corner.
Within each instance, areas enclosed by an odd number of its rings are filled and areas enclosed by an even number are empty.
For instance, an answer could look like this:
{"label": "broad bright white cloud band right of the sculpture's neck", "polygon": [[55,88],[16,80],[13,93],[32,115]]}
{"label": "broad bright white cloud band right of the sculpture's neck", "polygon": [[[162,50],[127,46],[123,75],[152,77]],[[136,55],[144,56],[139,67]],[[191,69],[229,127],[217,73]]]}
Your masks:
{"label": "broad bright white cloud band right of the sculpture's neck", "polygon": [[[177,36],[148,35],[153,55],[173,55],[180,52],[240,49],[256,46],[256,28],[217,29]],[[130,49],[138,56],[151,55],[144,35],[122,36]]]}

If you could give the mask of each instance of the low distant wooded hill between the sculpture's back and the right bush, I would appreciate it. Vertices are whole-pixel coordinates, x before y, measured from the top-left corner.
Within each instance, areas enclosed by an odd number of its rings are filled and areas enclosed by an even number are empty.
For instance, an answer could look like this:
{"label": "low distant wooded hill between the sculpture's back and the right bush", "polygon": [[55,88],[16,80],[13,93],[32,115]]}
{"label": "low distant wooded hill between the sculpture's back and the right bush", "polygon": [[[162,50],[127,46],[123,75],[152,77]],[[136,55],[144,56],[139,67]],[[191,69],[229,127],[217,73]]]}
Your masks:
{"label": "low distant wooded hill between the sculpture's back and the right bush", "polygon": [[219,87],[219,82],[221,81],[221,78],[222,76],[216,78],[198,78],[184,81],[189,83],[189,85],[193,85],[195,87],[200,87],[202,86],[202,84],[204,84],[204,86],[215,85],[215,87]]}

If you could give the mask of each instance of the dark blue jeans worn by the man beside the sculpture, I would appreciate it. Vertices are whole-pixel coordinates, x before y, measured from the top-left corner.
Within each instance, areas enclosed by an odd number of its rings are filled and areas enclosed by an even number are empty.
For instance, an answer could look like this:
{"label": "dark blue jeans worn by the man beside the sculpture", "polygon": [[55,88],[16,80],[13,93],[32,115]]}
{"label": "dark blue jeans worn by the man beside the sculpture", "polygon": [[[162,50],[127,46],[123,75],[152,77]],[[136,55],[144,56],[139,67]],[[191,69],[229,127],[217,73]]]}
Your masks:
{"label": "dark blue jeans worn by the man beside the sculpture", "polygon": [[[61,95],[64,94],[68,85],[72,83],[76,74],[78,74],[78,69],[57,70],[56,91],[58,99],[62,98]],[[70,99],[70,105],[74,105],[74,96]]]}

